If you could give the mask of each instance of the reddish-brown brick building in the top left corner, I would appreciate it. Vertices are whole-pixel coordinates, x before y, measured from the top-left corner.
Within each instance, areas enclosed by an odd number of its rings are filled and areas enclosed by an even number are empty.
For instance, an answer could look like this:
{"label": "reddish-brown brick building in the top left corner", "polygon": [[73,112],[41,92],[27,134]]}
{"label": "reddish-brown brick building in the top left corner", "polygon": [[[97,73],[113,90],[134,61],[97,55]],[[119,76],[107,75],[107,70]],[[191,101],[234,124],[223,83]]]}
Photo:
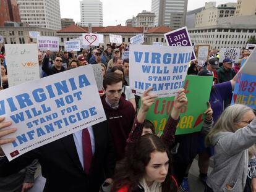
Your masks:
{"label": "reddish-brown brick building in the top left corner", "polygon": [[20,14],[16,0],[0,0],[0,27],[4,22],[20,22]]}

